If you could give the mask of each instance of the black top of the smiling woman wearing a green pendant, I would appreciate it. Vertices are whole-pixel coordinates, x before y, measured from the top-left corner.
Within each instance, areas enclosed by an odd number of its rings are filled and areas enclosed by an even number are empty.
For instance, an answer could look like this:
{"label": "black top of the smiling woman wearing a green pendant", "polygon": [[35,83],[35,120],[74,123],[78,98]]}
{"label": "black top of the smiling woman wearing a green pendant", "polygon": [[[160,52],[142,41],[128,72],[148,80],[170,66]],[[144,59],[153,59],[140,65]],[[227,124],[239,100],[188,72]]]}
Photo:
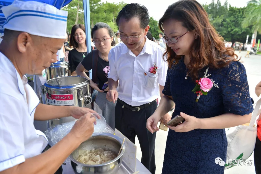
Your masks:
{"label": "black top of the smiling woman wearing a green pendant", "polygon": [[[75,48],[69,51],[68,60],[70,64],[70,71],[71,73],[76,70],[76,67],[81,63],[83,60],[82,56],[87,56],[87,52],[79,52]],[[89,72],[86,73],[89,76]]]}

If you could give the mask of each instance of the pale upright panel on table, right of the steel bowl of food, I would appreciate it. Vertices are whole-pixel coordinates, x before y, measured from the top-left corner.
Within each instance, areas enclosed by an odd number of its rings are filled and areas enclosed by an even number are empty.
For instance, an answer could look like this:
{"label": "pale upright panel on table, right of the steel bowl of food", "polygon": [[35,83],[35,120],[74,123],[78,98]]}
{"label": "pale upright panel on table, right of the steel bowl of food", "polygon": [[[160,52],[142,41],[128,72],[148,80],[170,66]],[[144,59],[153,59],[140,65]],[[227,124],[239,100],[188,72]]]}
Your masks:
{"label": "pale upright panel on table, right of the steel bowl of food", "polygon": [[133,170],[136,171],[136,156],[137,146],[133,144],[126,136],[120,131],[115,129],[115,135],[120,137],[122,140],[125,138],[125,152],[123,153],[123,161]]}

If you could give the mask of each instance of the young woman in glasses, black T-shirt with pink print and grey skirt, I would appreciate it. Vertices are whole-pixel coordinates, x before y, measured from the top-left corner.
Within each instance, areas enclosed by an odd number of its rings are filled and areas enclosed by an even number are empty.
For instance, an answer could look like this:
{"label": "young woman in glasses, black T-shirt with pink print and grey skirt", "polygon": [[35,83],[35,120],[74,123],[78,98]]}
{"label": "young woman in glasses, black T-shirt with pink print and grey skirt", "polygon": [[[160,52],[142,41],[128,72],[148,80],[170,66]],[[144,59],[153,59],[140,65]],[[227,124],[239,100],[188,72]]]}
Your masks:
{"label": "young woman in glasses, black T-shirt with pink print and grey skirt", "polygon": [[[76,68],[78,75],[86,77],[90,80],[90,85],[92,88],[99,91],[95,103],[102,110],[102,115],[104,116],[106,123],[110,125],[112,129],[115,129],[115,105],[116,103],[109,102],[106,99],[106,93],[109,91],[109,87],[102,89],[104,83],[108,83],[108,73],[110,71],[110,65],[108,61],[108,54],[113,46],[115,46],[115,41],[112,37],[113,31],[108,24],[99,22],[94,25],[91,31],[91,36],[93,38],[93,43],[98,50],[98,61],[96,67],[96,83],[93,82],[84,72],[92,69],[92,56],[91,51],[86,55],[86,57],[79,63]],[[94,72],[93,72],[94,74]],[[93,78],[93,77],[92,77]]]}

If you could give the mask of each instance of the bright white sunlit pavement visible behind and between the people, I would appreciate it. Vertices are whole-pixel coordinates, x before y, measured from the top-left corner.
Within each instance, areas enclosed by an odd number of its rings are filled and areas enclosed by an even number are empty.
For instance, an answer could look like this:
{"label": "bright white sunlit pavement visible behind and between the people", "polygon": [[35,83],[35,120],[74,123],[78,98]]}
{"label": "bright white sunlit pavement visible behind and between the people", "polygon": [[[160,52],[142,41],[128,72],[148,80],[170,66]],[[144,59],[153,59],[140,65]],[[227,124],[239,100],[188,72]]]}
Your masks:
{"label": "bright white sunlit pavement visible behind and between the people", "polygon": [[[261,56],[250,55],[250,58],[245,58],[246,51],[242,51],[238,56],[242,56],[243,64],[246,68],[247,79],[250,88],[250,95],[255,100],[257,99],[254,90],[256,84],[261,81]],[[155,144],[155,157],[156,157],[156,174],[161,174],[162,164],[164,159],[165,145],[167,140],[168,132],[159,130],[156,136]],[[137,145],[137,158],[141,159],[141,151],[139,146],[139,141],[136,137],[135,144]],[[253,155],[249,158],[253,160]],[[234,166],[231,169],[225,170],[225,174],[255,174],[254,163],[251,166]]]}

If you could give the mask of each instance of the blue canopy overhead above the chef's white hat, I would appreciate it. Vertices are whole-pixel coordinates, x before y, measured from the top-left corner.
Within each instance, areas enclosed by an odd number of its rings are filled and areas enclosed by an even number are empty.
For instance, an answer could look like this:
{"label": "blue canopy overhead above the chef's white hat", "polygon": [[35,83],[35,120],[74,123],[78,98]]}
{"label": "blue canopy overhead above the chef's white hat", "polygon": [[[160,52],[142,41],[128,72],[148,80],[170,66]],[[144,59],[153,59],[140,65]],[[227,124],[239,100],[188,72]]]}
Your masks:
{"label": "blue canopy overhead above the chef's white hat", "polygon": [[[0,34],[4,32],[3,23],[5,22],[4,14],[1,10],[2,7],[5,7],[7,5],[10,5],[14,0],[1,0],[0,1]],[[65,5],[69,4],[72,0],[22,0],[22,1],[37,1],[37,2],[43,2],[46,4],[50,4],[55,6],[58,9],[61,9]]]}

